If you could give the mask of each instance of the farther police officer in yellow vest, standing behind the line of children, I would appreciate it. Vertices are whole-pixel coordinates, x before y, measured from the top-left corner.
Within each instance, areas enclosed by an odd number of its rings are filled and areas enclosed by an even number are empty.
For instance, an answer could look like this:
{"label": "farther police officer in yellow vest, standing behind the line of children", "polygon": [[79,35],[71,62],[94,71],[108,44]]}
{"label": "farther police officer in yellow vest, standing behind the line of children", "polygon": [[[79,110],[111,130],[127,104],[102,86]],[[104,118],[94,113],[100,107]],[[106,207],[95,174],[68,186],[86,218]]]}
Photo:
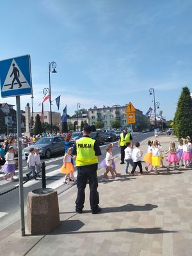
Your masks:
{"label": "farther police officer in yellow vest, standing behind the line of children", "polygon": [[124,131],[120,134],[120,139],[118,140],[118,147],[120,147],[120,152],[121,152],[121,163],[124,164],[124,159],[125,159],[125,148],[126,148],[126,143],[130,142],[131,143],[131,148],[132,148],[132,136],[130,133],[127,132],[127,128],[124,128]]}

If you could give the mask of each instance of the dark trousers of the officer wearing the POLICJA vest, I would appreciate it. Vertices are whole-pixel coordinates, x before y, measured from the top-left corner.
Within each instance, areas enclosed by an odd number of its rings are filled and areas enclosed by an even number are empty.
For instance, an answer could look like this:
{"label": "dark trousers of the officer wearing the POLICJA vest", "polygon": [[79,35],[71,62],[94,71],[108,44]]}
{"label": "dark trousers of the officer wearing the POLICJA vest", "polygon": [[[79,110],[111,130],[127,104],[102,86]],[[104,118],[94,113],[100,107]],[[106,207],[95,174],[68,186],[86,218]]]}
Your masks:
{"label": "dark trousers of the officer wearing the POLICJA vest", "polygon": [[97,192],[97,164],[77,166],[77,199],[76,211],[81,211],[84,207],[84,189],[89,181],[90,185],[90,206],[92,211],[97,211],[99,204],[99,193]]}

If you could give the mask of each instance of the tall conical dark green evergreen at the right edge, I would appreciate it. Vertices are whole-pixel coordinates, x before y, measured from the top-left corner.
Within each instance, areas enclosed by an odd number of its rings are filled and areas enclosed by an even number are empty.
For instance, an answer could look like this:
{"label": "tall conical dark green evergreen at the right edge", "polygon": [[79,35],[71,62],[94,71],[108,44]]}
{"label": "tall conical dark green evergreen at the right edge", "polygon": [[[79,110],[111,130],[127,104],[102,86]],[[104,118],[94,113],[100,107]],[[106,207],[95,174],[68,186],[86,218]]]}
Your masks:
{"label": "tall conical dark green evergreen at the right edge", "polygon": [[189,88],[182,88],[177,109],[173,120],[174,134],[177,138],[186,138],[192,136],[192,99]]}

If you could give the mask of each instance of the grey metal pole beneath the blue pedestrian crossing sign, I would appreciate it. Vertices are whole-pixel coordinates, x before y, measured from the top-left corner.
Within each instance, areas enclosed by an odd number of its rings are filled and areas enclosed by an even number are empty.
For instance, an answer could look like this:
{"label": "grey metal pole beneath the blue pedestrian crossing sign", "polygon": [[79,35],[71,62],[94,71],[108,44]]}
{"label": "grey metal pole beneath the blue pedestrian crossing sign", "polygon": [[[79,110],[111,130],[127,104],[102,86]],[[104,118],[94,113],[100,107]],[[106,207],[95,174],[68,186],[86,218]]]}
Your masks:
{"label": "grey metal pole beneath the blue pedestrian crossing sign", "polygon": [[25,236],[25,218],[24,218],[24,193],[22,178],[22,147],[21,147],[21,129],[20,129],[20,96],[16,96],[17,107],[17,143],[18,143],[18,161],[19,161],[19,204],[20,204],[20,230],[21,236]]}

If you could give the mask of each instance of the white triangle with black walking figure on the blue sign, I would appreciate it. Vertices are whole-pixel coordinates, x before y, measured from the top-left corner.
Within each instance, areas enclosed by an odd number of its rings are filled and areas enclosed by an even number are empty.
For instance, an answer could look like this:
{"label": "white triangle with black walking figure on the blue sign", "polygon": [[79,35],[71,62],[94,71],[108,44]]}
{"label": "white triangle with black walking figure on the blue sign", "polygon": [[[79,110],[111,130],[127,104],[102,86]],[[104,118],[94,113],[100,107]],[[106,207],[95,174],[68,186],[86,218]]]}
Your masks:
{"label": "white triangle with black walking figure on the blue sign", "polygon": [[22,71],[20,70],[16,61],[13,59],[8,70],[8,74],[6,75],[6,79],[4,81],[1,92],[7,92],[10,90],[20,90],[30,87],[31,86],[28,84],[27,79],[22,74]]}

